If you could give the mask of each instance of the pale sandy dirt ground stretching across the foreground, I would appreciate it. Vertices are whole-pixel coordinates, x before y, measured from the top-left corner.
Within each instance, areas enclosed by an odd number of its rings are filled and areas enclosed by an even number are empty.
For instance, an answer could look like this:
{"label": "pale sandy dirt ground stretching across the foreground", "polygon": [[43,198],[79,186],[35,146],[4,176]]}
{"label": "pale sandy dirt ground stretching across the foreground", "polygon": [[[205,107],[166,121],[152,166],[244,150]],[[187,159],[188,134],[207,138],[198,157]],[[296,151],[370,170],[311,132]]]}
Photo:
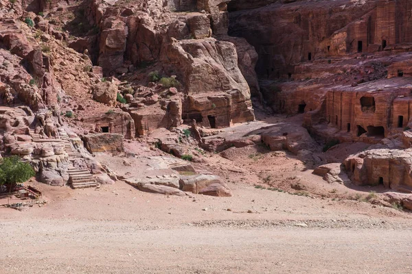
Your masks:
{"label": "pale sandy dirt ground stretching across the foreground", "polygon": [[0,210],[0,273],[412,273],[410,214],[370,203],[38,187],[47,206]]}

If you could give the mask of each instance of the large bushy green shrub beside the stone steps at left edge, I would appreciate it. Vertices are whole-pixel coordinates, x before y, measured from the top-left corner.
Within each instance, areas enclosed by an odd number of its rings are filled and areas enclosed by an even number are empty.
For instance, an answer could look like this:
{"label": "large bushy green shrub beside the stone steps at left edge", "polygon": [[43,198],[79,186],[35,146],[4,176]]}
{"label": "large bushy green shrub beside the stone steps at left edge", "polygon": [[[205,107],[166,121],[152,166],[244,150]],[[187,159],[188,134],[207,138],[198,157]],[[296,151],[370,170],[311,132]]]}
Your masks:
{"label": "large bushy green shrub beside the stone steps at left edge", "polygon": [[22,162],[19,156],[3,158],[0,164],[0,185],[11,184],[10,190],[16,183],[26,182],[36,175],[32,166]]}

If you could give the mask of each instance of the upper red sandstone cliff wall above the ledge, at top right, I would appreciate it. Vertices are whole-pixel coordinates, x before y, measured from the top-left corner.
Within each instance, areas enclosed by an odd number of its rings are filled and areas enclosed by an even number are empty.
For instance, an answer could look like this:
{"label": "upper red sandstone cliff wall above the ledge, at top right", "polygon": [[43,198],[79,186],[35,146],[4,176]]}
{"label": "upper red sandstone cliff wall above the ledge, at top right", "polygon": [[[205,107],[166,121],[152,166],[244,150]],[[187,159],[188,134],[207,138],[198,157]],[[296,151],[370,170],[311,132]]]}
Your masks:
{"label": "upper red sandstone cliff wall above the ledge, at top right", "polygon": [[233,8],[238,11],[230,13],[229,34],[247,38],[258,51],[260,77],[286,78],[288,73],[294,73],[295,64],[304,60],[376,52],[412,39],[406,0],[362,4],[278,2],[262,8],[245,1],[234,1],[233,6],[236,3],[240,5]]}

